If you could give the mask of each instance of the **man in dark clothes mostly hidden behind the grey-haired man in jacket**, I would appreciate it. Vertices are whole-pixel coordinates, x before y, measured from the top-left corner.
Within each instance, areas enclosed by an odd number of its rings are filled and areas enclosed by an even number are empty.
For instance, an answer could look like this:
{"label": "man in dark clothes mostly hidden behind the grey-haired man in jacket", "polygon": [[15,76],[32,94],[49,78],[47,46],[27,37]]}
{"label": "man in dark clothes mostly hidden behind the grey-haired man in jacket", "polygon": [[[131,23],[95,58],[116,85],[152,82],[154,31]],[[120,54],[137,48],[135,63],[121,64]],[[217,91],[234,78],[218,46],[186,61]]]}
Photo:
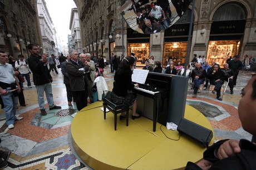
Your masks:
{"label": "man in dark clothes mostly hidden behind the grey-haired man in jacket", "polygon": [[72,104],[71,104],[72,97],[73,97],[74,100],[75,100],[75,97],[72,95],[72,90],[71,90],[71,87],[70,87],[70,79],[68,78],[68,74],[67,74],[67,70],[66,70],[66,64],[69,60],[70,60],[70,56],[67,55],[66,61],[61,63],[61,72],[64,75],[63,83],[66,86],[68,106],[72,106]]}

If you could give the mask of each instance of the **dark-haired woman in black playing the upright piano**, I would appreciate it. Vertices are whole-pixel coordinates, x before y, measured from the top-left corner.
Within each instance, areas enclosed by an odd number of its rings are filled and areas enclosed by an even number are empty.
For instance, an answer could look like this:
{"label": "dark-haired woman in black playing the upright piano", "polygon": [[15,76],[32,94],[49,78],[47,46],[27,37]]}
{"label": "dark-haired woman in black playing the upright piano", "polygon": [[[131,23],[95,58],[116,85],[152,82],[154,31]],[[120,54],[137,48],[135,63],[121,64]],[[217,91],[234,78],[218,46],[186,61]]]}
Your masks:
{"label": "dark-haired woman in black playing the upright piano", "polygon": [[[132,84],[131,75],[134,68],[135,59],[133,57],[126,57],[119,64],[114,76],[114,87],[111,92],[111,99],[115,104],[129,104],[132,106],[132,119],[139,118],[137,114],[137,100],[136,94],[130,93],[134,87],[139,87],[138,84]],[[125,112],[121,113],[120,120],[125,118]]]}

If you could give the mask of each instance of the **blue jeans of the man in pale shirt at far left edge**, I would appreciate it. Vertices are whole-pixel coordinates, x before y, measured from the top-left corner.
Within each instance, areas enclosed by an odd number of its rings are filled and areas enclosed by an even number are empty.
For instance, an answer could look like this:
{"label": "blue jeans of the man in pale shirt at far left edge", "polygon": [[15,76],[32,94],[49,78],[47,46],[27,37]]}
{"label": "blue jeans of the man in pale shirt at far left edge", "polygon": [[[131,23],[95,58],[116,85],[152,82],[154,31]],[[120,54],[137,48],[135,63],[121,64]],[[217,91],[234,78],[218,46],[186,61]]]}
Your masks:
{"label": "blue jeans of the man in pale shirt at far left edge", "polygon": [[18,96],[14,96],[12,92],[8,95],[1,95],[4,104],[4,114],[6,115],[6,124],[14,124],[16,120],[16,108],[18,105]]}

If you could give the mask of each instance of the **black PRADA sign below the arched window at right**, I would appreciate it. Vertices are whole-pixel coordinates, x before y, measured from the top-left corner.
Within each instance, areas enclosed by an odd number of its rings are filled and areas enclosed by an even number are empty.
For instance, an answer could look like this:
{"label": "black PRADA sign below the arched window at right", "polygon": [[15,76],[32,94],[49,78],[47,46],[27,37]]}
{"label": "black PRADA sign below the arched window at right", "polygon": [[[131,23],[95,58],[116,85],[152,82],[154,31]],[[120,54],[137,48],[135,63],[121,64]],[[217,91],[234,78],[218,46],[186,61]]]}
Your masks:
{"label": "black PRADA sign below the arched window at right", "polygon": [[211,24],[210,34],[244,33],[245,20],[225,20]]}

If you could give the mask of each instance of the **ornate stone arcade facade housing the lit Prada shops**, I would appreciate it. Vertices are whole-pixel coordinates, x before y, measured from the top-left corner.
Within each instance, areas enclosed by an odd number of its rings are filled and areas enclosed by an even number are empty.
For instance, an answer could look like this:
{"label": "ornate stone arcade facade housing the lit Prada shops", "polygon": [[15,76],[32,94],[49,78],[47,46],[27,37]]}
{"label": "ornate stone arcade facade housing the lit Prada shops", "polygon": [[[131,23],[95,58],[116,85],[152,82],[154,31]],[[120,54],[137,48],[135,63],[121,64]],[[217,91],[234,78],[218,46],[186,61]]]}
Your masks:
{"label": "ornate stone arcade facade housing the lit Prada shops", "polygon": [[[163,65],[171,58],[185,62],[193,54],[204,55],[209,63],[223,65],[230,56],[256,55],[256,2],[253,0],[195,1],[193,32],[188,48],[191,7],[178,22],[164,32],[141,34],[122,24],[121,12],[130,8],[128,0],[74,0],[81,23],[83,52],[120,56],[135,53],[138,64],[149,59]],[[171,3],[171,1],[169,1]],[[136,18],[135,13],[131,18]],[[124,33],[122,33],[122,25]],[[124,44],[124,46],[122,46]]]}

